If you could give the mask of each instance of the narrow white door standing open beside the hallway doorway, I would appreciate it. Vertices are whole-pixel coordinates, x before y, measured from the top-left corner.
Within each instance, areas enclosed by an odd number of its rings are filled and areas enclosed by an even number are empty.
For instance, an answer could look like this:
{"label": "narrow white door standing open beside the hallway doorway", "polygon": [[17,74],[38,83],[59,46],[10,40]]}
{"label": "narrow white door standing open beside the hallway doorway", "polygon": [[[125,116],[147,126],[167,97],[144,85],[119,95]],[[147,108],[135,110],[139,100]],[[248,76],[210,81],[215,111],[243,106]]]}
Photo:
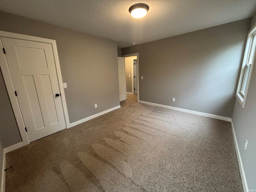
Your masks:
{"label": "narrow white door standing open beside the hallway doorway", "polygon": [[118,78],[119,78],[119,99],[126,100],[126,82],[125,82],[125,66],[124,58],[118,57]]}

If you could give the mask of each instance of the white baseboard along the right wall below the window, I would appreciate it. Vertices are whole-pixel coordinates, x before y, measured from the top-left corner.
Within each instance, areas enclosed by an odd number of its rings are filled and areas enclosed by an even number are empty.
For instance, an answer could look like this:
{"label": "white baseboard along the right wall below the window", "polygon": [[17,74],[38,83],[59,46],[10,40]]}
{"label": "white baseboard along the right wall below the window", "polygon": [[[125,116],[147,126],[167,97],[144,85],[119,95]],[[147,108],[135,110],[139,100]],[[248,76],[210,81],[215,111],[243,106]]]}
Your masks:
{"label": "white baseboard along the right wall below the window", "polygon": [[238,160],[238,165],[239,165],[239,170],[240,170],[240,175],[241,175],[241,179],[242,179],[244,192],[249,192],[246,177],[245,177],[245,174],[244,174],[244,167],[243,167],[243,163],[242,163],[242,158],[240,156],[238,142],[236,140],[236,133],[235,133],[235,130],[234,130],[234,124],[233,124],[232,120],[231,120],[231,127],[232,127],[233,139],[234,139],[234,144],[235,144],[235,148],[236,148],[236,156],[237,156],[237,160]]}

